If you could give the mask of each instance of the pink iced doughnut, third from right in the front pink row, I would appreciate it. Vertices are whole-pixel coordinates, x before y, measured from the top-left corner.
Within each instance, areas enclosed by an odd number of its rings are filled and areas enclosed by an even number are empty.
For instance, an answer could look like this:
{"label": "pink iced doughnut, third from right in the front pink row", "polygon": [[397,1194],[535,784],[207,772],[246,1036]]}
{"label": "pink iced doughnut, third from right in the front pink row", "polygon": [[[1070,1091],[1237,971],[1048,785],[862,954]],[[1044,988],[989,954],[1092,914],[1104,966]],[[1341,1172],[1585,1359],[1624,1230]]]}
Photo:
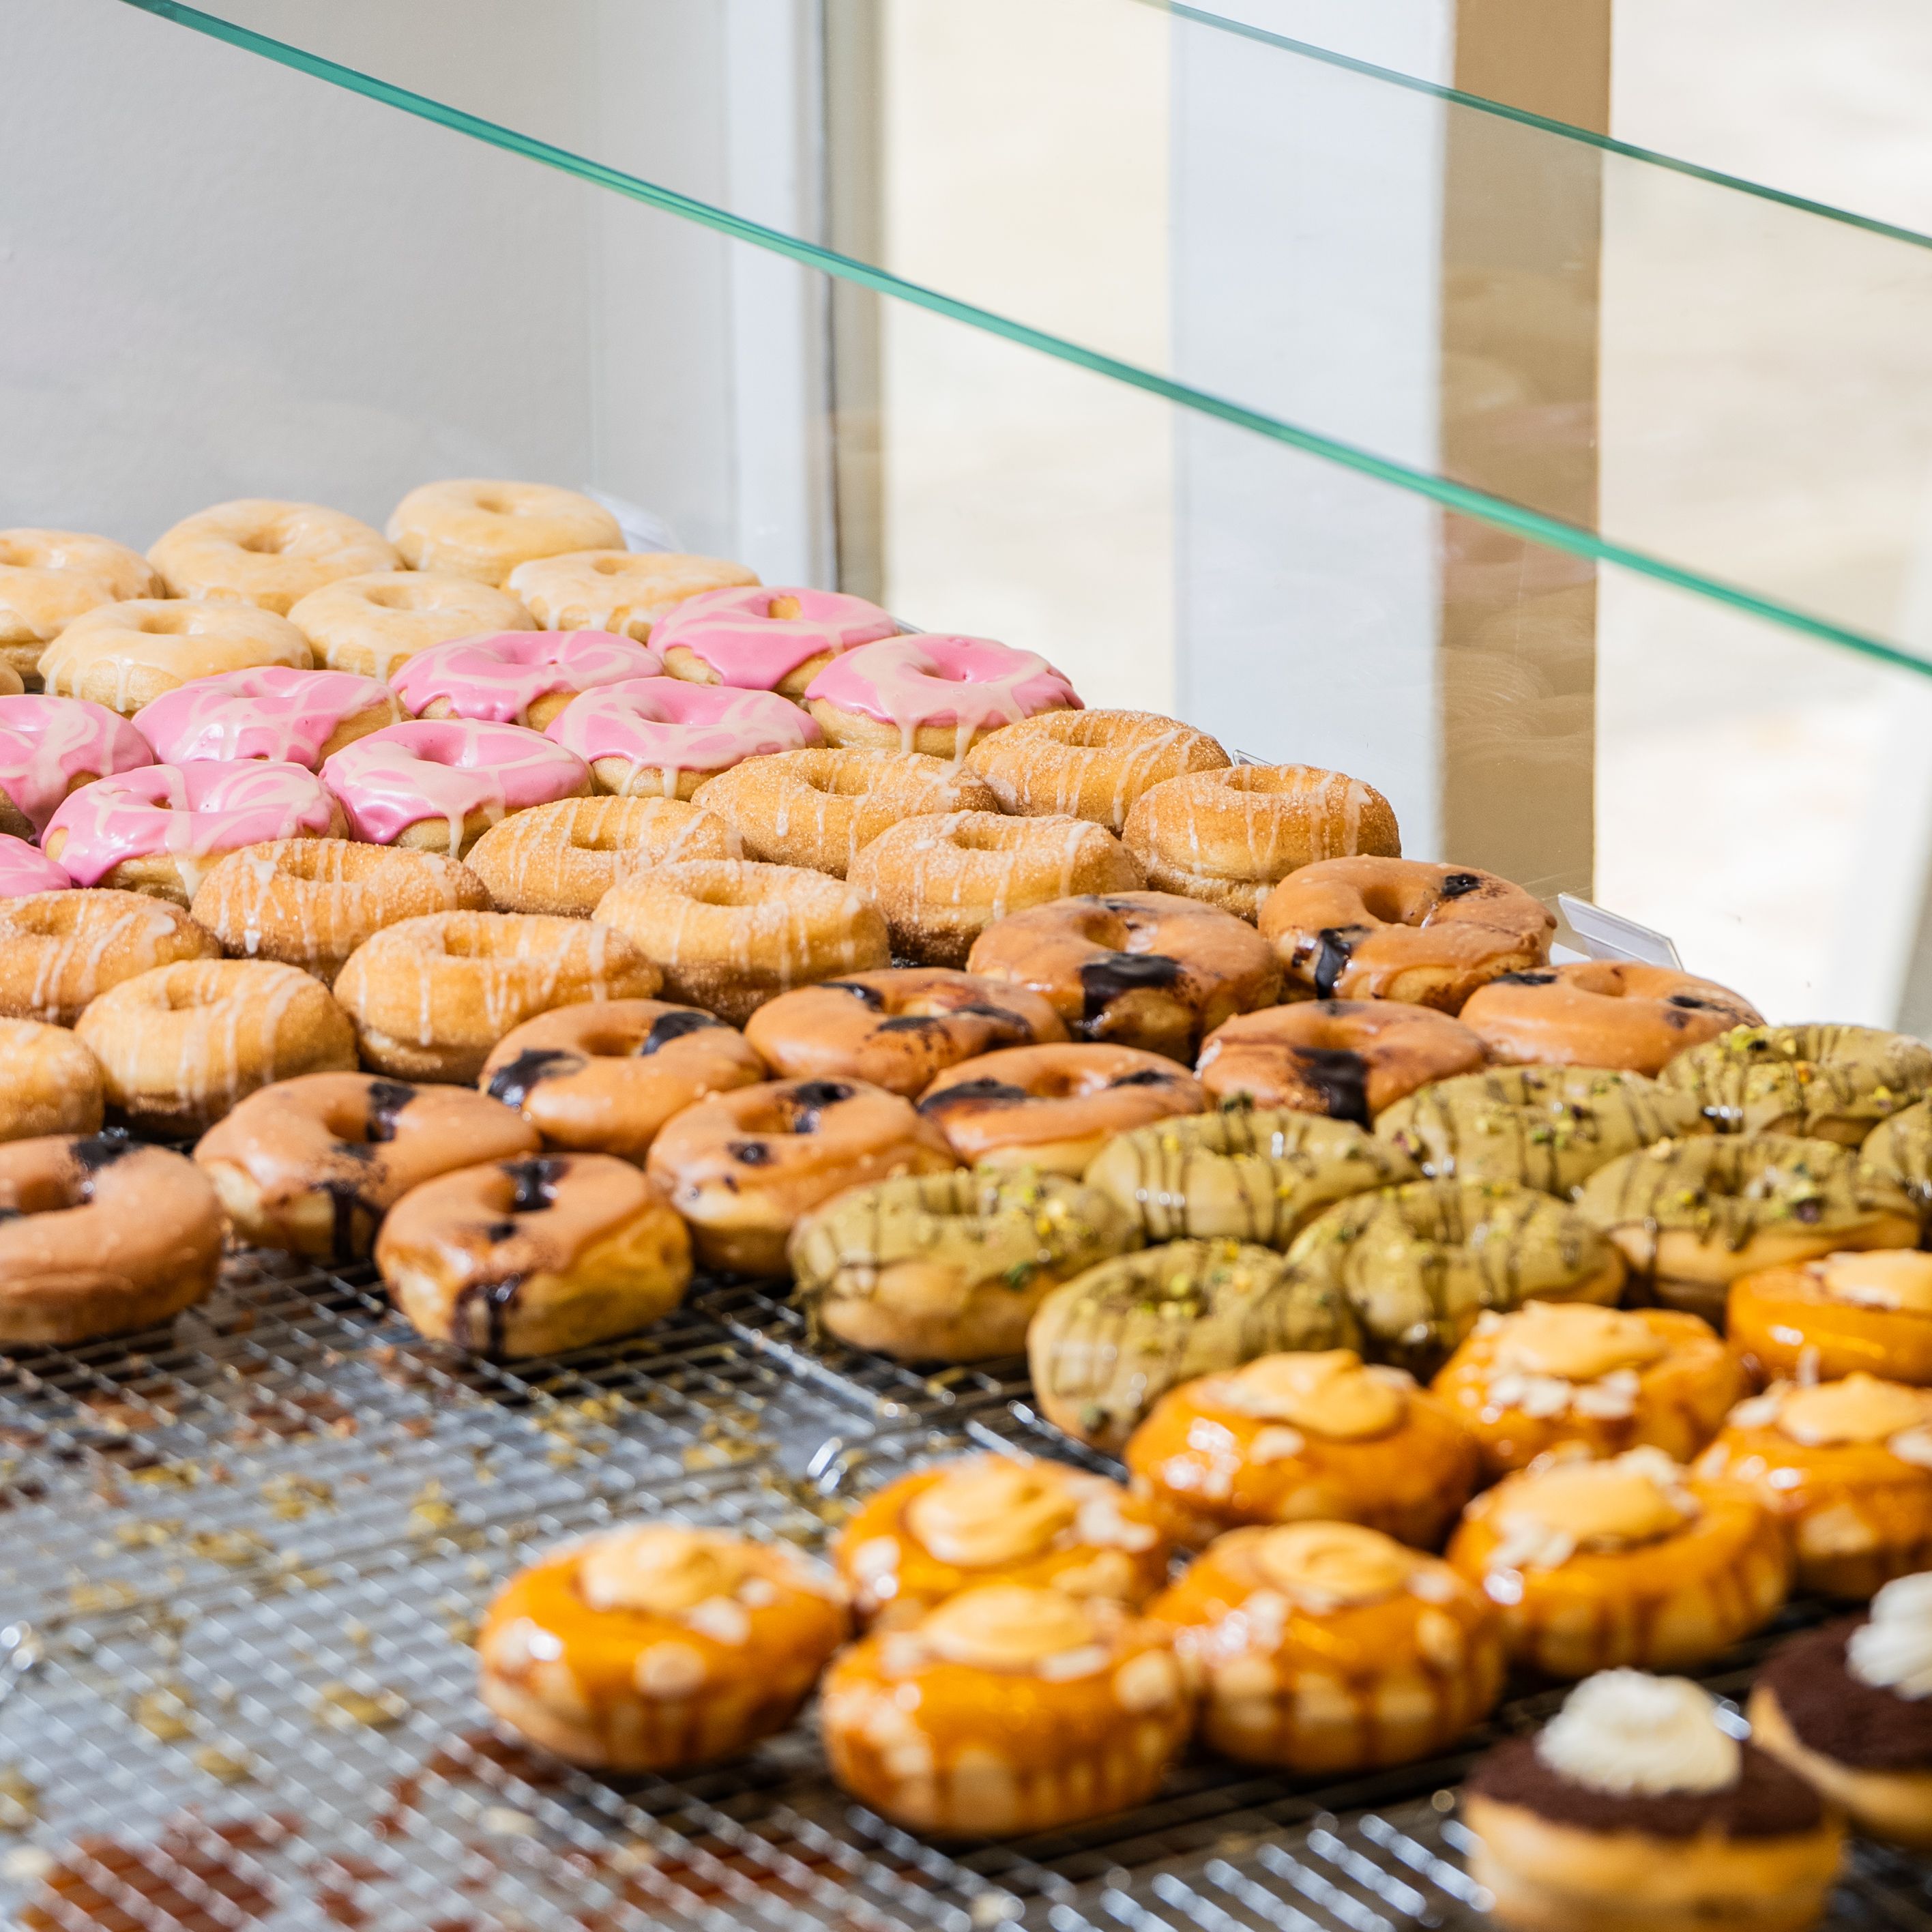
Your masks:
{"label": "pink iced doughnut, third from right in the front pink row", "polygon": [[462,858],[498,819],[583,798],[583,759],[522,724],[415,719],[357,738],[323,765],[354,837]]}

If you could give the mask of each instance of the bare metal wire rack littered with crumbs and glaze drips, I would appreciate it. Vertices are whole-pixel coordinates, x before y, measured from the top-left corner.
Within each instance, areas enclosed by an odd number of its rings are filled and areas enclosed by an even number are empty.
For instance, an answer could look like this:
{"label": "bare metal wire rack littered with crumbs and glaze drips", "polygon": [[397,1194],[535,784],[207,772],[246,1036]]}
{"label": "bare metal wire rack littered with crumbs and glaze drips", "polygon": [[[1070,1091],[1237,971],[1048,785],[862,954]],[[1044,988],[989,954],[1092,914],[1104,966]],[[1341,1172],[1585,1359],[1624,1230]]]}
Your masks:
{"label": "bare metal wire rack littered with crumbs and glaze drips", "polygon": [[[468,1640],[545,1544],[649,1511],[811,1548],[933,1453],[1107,1464],[1034,1416],[1024,1364],[821,1350],[761,1287],[699,1283],[614,1349],[491,1366],[413,1337],[371,1281],[247,1250],[170,1329],[0,1354],[0,1922],[1488,1924],[1453,1812],[1466,1756],[1310,1789],[1198,1754],[1138,1812],[935,1849],[844,1799],[810,1725],[680,1783],[508,1747]],[[1772,1640],[1712,1687],[1741,1690]],[[1932,1928],[1932,1872],[1857,1847],[1830,1924]]]}

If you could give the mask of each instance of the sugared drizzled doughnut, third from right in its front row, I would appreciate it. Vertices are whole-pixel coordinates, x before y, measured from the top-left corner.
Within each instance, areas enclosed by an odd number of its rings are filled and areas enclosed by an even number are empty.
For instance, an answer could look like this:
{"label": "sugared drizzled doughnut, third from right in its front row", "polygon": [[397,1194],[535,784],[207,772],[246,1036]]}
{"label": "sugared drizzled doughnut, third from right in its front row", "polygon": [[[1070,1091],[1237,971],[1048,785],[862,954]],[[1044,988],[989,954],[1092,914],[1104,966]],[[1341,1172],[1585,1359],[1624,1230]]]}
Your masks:
{"label": "sugared drizzled doughnut, third from right in its front row", "polygon": [[885,920],[864,895],[800,866],[684,860],[620,879],[597,902],[665,974],[665,997],[732,1026],[790,991],[891,960]]}

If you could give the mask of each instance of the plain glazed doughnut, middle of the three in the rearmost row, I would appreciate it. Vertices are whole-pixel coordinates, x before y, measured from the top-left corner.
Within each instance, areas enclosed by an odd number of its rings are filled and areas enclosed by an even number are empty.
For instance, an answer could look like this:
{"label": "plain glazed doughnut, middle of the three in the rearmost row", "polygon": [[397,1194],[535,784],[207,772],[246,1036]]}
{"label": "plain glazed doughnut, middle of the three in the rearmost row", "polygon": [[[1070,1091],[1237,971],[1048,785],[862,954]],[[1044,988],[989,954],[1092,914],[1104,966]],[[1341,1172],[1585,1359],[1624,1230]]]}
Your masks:
{"label": "plain glazed doughnut, middle of the three in the rearmost row", "polygon": [[245,603],[276,616],[338,578],[396,568],[396,553],[357,518],[267,497],[184,516],[149,545],[147,560],[170,597]]}

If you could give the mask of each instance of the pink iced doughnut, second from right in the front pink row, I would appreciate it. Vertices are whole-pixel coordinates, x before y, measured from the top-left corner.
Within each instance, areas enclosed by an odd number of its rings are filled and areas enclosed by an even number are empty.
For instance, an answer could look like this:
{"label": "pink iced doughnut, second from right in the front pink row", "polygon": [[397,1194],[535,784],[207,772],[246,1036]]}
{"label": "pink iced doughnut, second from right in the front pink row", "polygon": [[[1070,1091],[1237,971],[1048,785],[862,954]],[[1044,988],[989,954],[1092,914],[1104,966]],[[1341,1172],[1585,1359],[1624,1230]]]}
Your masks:
{"label": "pink iced doughnut, second from right in the front pink row", "polygon": [[603,792],[690,798],[759,752],[798,752],[819,728],[788,697],[684,678],[632,678],[585,692],[549,730]]}

